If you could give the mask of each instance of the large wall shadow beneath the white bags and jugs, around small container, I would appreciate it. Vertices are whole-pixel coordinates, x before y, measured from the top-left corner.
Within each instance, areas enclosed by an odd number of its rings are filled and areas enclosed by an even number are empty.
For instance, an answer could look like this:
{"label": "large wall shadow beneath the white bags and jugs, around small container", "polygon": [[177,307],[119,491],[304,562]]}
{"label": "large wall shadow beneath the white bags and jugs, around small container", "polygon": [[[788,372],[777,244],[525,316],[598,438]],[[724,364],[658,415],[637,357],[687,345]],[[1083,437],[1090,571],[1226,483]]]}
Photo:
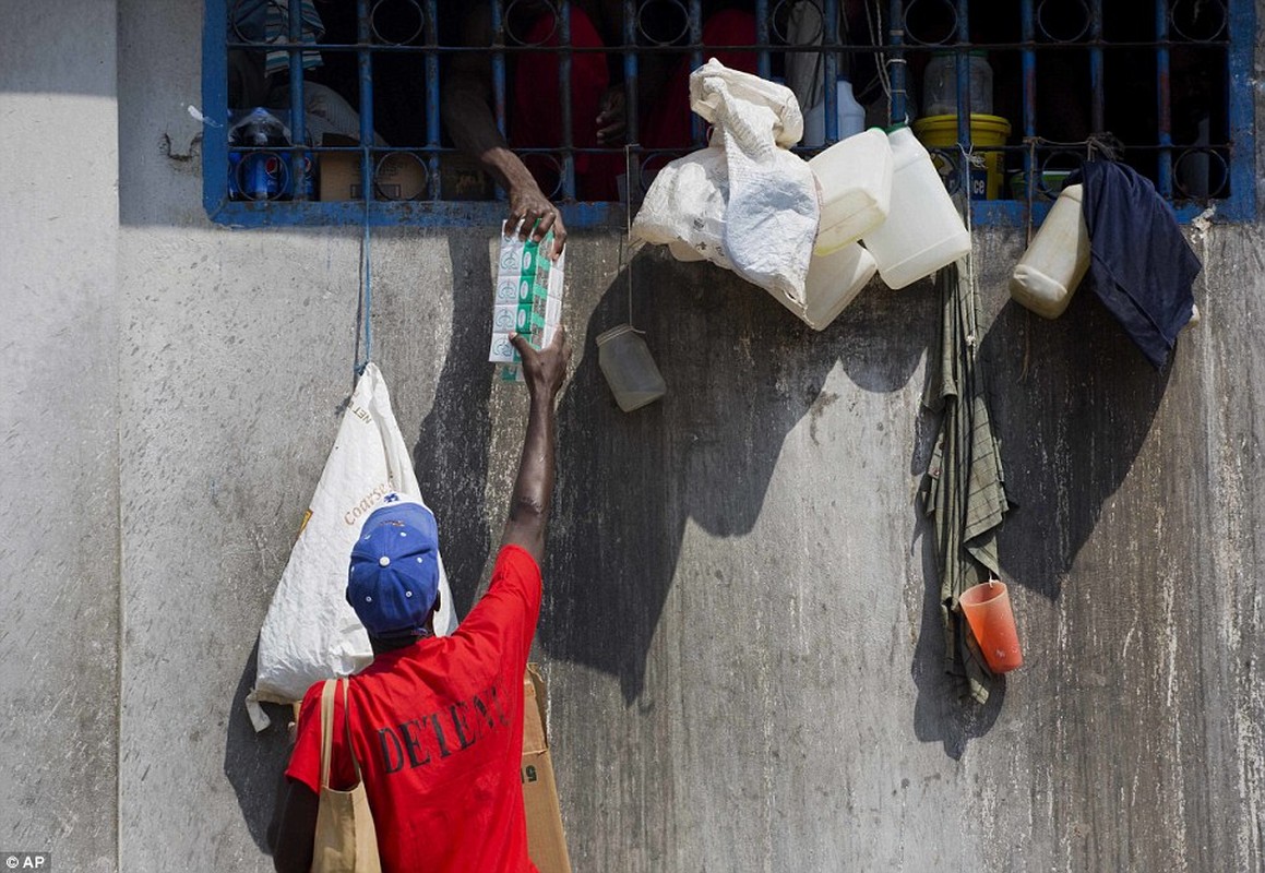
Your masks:
{"label": "large wall shadow beneath the white bags and jugs, around small container", "polygon": [[631,703],[686,521],[719,538],[750,533],[782,444],[834,366],[867,390],[898,390],[931,334],[893,330],[888,319],[922,320],[934,304],[911,307],[872,291],[817,333],[729,272],[643,252],[632,264],[634,324],[646,330],[668,395],[625,414],[595,340],[629,320],[626,269],[589,318],[559,407],[539,634],[550,657],[617,676]]}

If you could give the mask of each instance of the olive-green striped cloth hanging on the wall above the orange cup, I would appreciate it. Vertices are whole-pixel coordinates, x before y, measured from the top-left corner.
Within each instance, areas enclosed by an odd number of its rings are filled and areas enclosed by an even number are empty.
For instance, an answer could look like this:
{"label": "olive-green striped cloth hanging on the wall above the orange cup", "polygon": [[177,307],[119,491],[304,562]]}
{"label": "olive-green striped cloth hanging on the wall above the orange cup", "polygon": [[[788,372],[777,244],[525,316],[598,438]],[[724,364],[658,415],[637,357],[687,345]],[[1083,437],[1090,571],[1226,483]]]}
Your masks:
{"label": "olive-green striped cloth hanging on the wall above the orange cup", "polygon": [[940,617],[945,672],[963,677],[975,701],[988,700],[993,674],[966,626],[958,598],[998,576],[997,529],[1008,509],[1002,455],[988,414],[983,369],[975,359],[979,334],[965,261],[936,275],[944,306],[939,372],[923,404],[941,412],[927,467],[923,509],[932,516],[940,571]]}

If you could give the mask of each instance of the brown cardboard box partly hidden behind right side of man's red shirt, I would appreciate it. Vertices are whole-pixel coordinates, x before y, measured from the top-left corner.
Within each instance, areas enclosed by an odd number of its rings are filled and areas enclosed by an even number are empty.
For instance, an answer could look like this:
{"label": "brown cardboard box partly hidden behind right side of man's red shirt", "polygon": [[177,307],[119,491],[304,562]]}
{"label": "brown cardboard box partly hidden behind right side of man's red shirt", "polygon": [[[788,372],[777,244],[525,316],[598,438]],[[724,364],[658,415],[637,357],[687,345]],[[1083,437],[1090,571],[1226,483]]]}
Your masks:
{"label": "brown cardboard box partly hidden behind right side of man's red shirt", "polygon": [[545,681],[536,664],[522,677],[522,807],[528,814],[528,854],[540,873],[571,873],[567,835],[558,807],[549,738],[545,735]]}

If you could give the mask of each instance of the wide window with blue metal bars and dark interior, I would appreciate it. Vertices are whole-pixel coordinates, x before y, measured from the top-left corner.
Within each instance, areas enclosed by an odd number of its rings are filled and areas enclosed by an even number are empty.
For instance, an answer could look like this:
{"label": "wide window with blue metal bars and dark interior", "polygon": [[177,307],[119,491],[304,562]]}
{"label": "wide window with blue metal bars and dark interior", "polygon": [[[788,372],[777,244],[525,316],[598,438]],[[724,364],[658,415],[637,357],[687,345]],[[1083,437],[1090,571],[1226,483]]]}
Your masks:
{"label": "wide window with blue metal bars and dark interior", "polygon": [[[486,4],[486,5],[484,5]],[[803,15],[808,5],[820,15],[821,27],[811,43],[791,35],[788,22]],[[345,6],[350,6],[350,9]],[[715,39],[702,0],[622,0],[615,5],[622,20],[597,23],[596,13],[576,0],[550,0],[543,14],[553,16],[553,29],[538,28],[536,37],[515,33],[522,22],[536,20],[540,5],[526,0],[355,0],[354,4],[312,4],[311,0],[204,0],[204,111],[220,127],[205,129],[204,202],[218,221],[256,224],[492,224],[505,211],[506,194],[484,185],[471,168],[471,156],[462,156],[445,139],[441,101],[449,65],[481,53],[486,61],[491,94],[488,111],[505,137],[515,135],[515,86],[529,61],[549,54],[557,70],[549,82],[530,82],[534,97],[555,106],[555,138],[511,143],[533,167],[544,167],[557,178],[546,191],[571,228],[608,224],[622,226],[625,209],[615,202],[578,202],[595,196],[588,173],[600,162],[619,158],[624,148],[593,144],[583,125],[595,119],[581,101],[577,75],[595,54],[610,58],[612,81],[624,87],[626,140],[630,163],[627,195],[660,162],[703,144],[706,124],[691,116],[689,135],[676,132],[672,142],[658,142],[659,121],[648,134],[646,114],[662,108],[660,73],[670,68],[696,68],[710,53],[750,52],[754,68],[764,77],[782,76],[787,59],[820,52],[816,65],[824,110],[821,128],[827,143],[839,135],[840,75],[850,76],[863,102],[887,97],[889,120],[902,123],[917,116],[910,95],[917,95],[912,76],[921,76],[922,63],[937,52],[951,56],[949,71],[956,72],[956,139],[972,149],[972,114],[982,110],[980,95],[970,85],[973,53],[987,51],[993,67],[996,111],[1013,125],[1001,151],[1006,161],[994,162],[989,192],[998,194],[996,172],[1004,164],[1022,168],[1028,196],[1008,199],[1002,191],[994,200],[977,200],[978,223],[1022,224],[1028,213],[1040,216],[1050,192],[1041,183],[1042,170],[1066,168],[1075,161],[1104,157],[1112,135],[1122,140],[1114,152],[1150,175],[1156,189],[1175,201],[1179,216],[1189,218],[1209,204],[1218,218],[1255,216],[1255,100],[1252,65],[1256,39],[1256,0],[1018,0],[1015,4],[980,0],[750,0],[744,10],[754,13],[754,44],[720,44],[753,37]],[[973,9],[974,6],[974,9]],[[415,11],[415,15],[412,15]],[[483,13],[490,38],[463,44],[464,30],[454,22]],[[745,13],[744,13],[745,14]],[[329,29],[321,33],[321,15]],[[583,16],[583,20],[582,20]],[[406,20],[396,34],[392,24]],[[926,22],[935,22],[927,25]],[[858,23],[863,23],[858,25]],[[414,30],[414,23],[417,23]],[[605,44],[591,42],[595,23]],[[842,24],[841,24],[842,23]],[[803,19],[796,19],[802,28]],[[864,30],[865,24],[869,25]],[[512,25],[512,28],[511,28]],[[864,30],[864,34],[863,34]],[[802,33],[797,30],[796,33]],[[544,34],[544,35],[540,35]],[[863,35],[861,35],[863,34]],[[533,42],[535,40],[535,42]],[[717,44],[712,46],[711,42]],[[240,75],[242,58],[266,67],[275,76],[266,96],[243,102],[234,95],[229,105],[230,76]],[[722,54],[724,57],[724,54]],[[816,58],[815,58],[816,59]],[[872,66],[873,62],[873,66]],[[908,62],[908,63],[907,63]],[[941,61],[940,63],[944,63]],[[1154,80],[1150,65],[1154,63]],[[1188,70],[1211,78],[1208,94],[1192,96]],[[318,66],[319,65],[319,66]],[[911,71],[912,65],[912,71]],[[873,70],[873,73],[870,72]],[[404,72],[401,72],[404,71]],[[410,72],[415,71],[415,72]],[[864,75],[861,72],[864,71]],[[1135,72],[1136,71],[1136,72]],[[872,82],[861,81],[870,75]],[[233,87],[239,87],[237,78]],[[316,84],[319,82],[319,85]],[[865,86],[869,85],[867,89]],[[330,92],[345,97],[345,110],[358,113],[340,132],[359,139],[355,144],[331,146],[314,140],[329,130],[328,119],[314,109]],[[674,86],[678,87],[678,86]],[[1056,96],[1051,97],[1051,92]],[[407,100],[400,95],[407,94]],[[519,92],[520,99],[522,92]],[[674,99],[681,95],[673,94]],[[953,101],[954,90],[949,90]],[[1204,100],[1207,105],[1198,105]],[[1192,101],[1202,113],[1198,134],[1188,111]],[[528,100],[526,102],[530,102]],[[411,114],[400,121],[407,106]],[[290,142],[268,144],[244,137],[229,143],[235,113],[254,106],[268,108],[288,125]],[[584,106],[584,109],[581,109]],[[937,111],[951,111],[940,109]],[[925,113],[923,113],[925,114]],[[352,118],[352,116],[348,116]],[[1073,118],[1074,124],[1068,123]],[[405,133],[401,133],[401,127]],[[684,125],[682,125],[684,127]],[[376,135],[381,130],[382,135]],[[553,127],[550,127],[553,130]],[[653,144],[648,147],[646,140]],[[679,142],[677,142],[679,139]],[[310,142],[311,140],[311,142]],[[385,142],[390,142],[386,146]],[[668,148],[668,146],[672,148]],[[1097,149],[1097,154],[1094,154]],[[805,156],[812,149],[803,147]],[[945,157],[950,157],[949,152]],[[353,158],[354,156],[354,158]],[[342,166],[353,176],[354,201],[334,200],[329,192],[312,190],[300,181],[312,167]],[[956,158],[956,156],[953,156]],[[1058,158],[1058,159],[1054,159]],[[354,162],[358,172],[348,167]],[[416,162],[410,172],[424,177],[420,189],[402,192],[387,180],[398,163]],[[267,163],[280,166],[282,181],[268,186],[252,177],[254,187],[244,191],[242,180]],[[552,167],[548,164],[553,164]],[[956,166],[956,159],[953,161]],[[1049,164],[1049,166],[1047,166]],[[417,173],[417,168],[421,173]],[[288,176],[286,176],[288,173]],[[621,171],[622,175],[622,171]],[[968,167],[950,173],[970,178]],[[344,177],[345,178],[345,177]],[[1194,182],[1192,182],[1194,180]],[[550,182],[553,183],[553,182]],[[611,186],[614,189],[614,185]],[[1036,196],[1034,199],[1032,190]],[[334,192],[338,196],[338,192]],[[457,200],[473,196],[479,200]],[[482,197],[498,197],[482,200]],[[601,196],[601,195],[597,195]],[[614,195],[611,195],[614,196]]]}

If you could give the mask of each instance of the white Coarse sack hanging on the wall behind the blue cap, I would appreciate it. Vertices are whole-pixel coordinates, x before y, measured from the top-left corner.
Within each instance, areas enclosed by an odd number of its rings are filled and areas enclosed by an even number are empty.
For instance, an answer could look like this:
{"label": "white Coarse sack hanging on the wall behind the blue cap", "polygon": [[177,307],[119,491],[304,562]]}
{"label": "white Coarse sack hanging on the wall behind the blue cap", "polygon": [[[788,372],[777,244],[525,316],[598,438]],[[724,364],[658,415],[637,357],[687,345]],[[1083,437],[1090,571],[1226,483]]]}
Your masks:
{"label": "white Coarse sack hanging on the wall behind the blue cap", "polygon": [[[259,630],[259,658],[247,710],[268,726],[259,701],[300,701],[320,679],[349,676],[373,660],[369,638],[347,602],[352,545],[366,516],[397,491],[421,500],[417,477],[382,373],[368,364],[343,414],[306,521]],[[443,558],[435,633],[457,626]]]}

